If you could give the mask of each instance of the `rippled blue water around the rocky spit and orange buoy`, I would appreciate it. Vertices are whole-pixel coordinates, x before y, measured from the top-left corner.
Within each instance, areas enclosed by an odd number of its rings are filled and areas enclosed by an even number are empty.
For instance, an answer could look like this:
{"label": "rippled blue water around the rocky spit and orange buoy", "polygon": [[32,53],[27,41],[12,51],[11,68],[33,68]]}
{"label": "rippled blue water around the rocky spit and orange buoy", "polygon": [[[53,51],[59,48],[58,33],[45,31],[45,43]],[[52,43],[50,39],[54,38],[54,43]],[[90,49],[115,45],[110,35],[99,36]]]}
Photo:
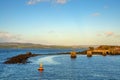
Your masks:
{"label": "rippled blue water around the rocky spit and orange buoy", "polygon": [[[31,51],[37,54],[68,52],[71,49],[0,49],[0,80],[120,80],[120,56],[37,56],[27,64],[3,64],[12,56]],[[82,51],[82,49],[76,49]],[[39,63],[44,65],[41,73]]]}

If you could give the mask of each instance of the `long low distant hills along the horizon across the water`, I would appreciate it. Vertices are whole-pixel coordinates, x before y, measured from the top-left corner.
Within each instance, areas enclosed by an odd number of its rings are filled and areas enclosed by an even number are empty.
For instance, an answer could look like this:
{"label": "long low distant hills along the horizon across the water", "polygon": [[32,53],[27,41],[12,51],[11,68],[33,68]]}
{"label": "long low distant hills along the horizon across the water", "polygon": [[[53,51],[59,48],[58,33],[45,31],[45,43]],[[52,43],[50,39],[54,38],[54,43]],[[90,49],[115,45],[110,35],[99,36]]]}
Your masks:
{"label": "long low distant hills along the horizon across the water", "polygon": [[59,45],[42,45],[42,44],[17,43],[17,42],[0,43],[0,48],[88,48],[88,47],[89,45],[59,46]]}

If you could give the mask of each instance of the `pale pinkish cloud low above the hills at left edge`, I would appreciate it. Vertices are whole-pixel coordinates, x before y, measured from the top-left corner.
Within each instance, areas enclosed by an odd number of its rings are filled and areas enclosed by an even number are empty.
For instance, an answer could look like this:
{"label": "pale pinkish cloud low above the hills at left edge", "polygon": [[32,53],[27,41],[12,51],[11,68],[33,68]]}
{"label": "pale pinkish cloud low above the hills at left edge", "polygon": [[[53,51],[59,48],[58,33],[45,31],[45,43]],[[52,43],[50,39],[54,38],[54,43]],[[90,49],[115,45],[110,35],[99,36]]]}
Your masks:
{"label": "pale pinkish cloud low above the hills at left edge", "polygon": [[8,32],[0,32],[0,42],[18,41],[20,39],[20,35],[13,35]]}

